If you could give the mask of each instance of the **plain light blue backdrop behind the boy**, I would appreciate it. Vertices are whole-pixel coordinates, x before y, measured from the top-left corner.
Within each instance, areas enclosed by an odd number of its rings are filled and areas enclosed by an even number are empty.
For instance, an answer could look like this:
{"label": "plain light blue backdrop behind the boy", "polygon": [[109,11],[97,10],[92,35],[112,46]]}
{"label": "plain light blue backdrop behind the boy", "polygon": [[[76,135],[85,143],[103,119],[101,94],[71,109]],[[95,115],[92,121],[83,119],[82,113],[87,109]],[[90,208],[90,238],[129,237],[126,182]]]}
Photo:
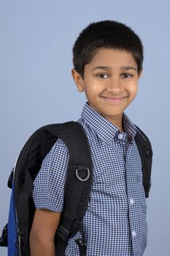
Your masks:
{"label": "plain light blue backdrop behind the boy", "polygon": [[[118,20],[144,44],[139,94],[126,113],[152,142],[144,256],[170,255],[170,2],[0,1],[0,230],[7,222],[7,178],[20,148],[45,124],[77,120],[85,103],[71,75],[72,46],[89,23]],[[7,249],[0,248],[0,255]]]}

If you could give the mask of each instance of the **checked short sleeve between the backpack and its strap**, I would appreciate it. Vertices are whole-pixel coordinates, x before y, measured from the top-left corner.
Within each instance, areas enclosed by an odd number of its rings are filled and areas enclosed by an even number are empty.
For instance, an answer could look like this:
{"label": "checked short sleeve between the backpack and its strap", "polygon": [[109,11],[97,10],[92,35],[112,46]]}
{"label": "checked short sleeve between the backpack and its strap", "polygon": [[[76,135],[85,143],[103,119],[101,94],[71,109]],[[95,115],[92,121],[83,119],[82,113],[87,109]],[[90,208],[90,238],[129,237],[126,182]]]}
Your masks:
{"label": "checked short sleeve between the backpack and its strap", "polygon": [[69,164],[69,151],[58,139],[42,162],[34,180],[33,199],[36,208],[63,211],[64,185]]}

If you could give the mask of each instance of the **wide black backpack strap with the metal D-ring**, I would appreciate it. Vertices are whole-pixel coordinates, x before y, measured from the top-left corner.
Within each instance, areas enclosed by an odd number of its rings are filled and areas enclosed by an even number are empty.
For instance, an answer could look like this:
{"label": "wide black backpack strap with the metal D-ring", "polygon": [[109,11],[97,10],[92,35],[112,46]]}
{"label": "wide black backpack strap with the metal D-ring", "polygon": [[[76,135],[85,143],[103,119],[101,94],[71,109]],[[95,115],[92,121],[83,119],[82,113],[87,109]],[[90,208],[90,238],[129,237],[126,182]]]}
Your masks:
{"label": "wide black backpack strap with the metal D-ring", "polygon": [[68,238],[78,230],[82,240],[76,241],[80,255],[85,252],[82,217],[88,206],[92,184],[92,160],[88,138],[82,125],[77,122],[51,125],[48,131],[61,138],[69,149],[69,167],[66,178],[63,213],[56,233],[56,255],[63,256]]}

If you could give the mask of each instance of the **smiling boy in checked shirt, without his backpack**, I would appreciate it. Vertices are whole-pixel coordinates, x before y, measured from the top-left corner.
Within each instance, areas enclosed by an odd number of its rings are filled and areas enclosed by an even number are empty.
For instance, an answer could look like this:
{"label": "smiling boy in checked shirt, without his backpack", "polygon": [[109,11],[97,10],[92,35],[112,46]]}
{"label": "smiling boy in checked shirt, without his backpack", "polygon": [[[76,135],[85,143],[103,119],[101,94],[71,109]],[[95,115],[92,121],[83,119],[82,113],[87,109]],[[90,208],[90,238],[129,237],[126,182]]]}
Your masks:
{"label": "smiling boy in checked shirt, without his backpack", "polygon": [[[88,102],[80,124],[93,161],[93,185],[83,230],[89,256],[141,256],[147,246],[147,204],[136,127],[124,110],[137,93],[143,48],[130,28],[112,20],[91,23],[73,48],[72,76]],[[63,209],[69,152],[57,140],[34,181],[36,212],[31,256],[55,255],[54,236]],[[65,255],[80,255],[69,239]]]}

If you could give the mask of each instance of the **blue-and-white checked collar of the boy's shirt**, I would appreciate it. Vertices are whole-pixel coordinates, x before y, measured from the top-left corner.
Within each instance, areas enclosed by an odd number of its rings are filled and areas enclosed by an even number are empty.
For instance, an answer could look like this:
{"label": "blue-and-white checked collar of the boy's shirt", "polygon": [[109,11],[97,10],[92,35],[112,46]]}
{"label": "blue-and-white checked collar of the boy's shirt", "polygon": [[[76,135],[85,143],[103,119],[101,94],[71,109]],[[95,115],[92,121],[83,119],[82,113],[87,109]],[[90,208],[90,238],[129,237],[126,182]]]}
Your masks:
{"label": "blue-and-white checked collar of the boy's shirt", "polygon": [[[85,103],[82,110],[82,119],[106,143],[117,138],[117,135],[120,133],[120,130],[114,124],[91,108],[88,102]],[[136,135],[136,127],[125,113],[123,113],[123,126],[128,140],[133,140]]]}

